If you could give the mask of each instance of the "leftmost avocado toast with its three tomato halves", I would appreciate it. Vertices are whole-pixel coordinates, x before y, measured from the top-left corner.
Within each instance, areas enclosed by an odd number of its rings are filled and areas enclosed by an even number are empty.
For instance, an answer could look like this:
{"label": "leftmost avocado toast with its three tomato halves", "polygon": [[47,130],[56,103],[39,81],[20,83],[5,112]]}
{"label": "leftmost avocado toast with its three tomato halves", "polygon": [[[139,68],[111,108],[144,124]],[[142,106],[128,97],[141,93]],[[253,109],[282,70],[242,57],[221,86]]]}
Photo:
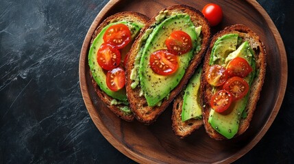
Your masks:
{"label": "leftmost avocado toast with its three tomato halves", "polygon": [[126,55],[147,23],[147,16],[136,12],[114,14],[96,29],[88,53],[88,64],[97,95],[111,111],[126,121],[134,120],[125,92]]}

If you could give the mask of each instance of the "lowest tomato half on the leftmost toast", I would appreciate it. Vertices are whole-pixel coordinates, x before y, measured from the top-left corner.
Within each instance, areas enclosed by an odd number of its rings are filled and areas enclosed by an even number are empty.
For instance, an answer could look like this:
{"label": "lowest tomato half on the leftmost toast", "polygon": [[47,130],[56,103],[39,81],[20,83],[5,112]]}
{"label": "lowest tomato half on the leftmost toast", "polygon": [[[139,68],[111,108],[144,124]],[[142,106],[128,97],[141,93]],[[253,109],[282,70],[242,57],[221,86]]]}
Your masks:
{"label": "lowest tomato half on the leftmost toast", "polygon": [[121,90],[125,86],[125,70],[123,68],[114,68],[106,74],[106,84],[112,91]]}

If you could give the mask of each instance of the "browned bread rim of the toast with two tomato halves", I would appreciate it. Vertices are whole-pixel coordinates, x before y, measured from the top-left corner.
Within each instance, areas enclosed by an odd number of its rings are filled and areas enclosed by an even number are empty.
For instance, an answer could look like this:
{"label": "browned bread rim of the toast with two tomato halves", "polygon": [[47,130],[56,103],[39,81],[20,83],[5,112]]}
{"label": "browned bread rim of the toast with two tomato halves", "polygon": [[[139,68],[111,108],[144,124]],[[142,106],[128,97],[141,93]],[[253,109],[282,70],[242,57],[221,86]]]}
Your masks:
{"label": "browned bread rim of the toast with two tomato halves", "polygon": [[[164,12],[165,11],[165,12]],[[127,69],[126,69],[126,90],[127,90],[127,98],[130,102],[131,110],[133,111],[136,119],[144,124],[151,124],[152,122],[156,121],[156,118],[169,106],[169,104],[173,101],[175,96],[179,94],[188,82],[188,79],[192,76],[195,68],[201,61],[206,48],[208,46],[209,38],[210,38],[210,25],[206,18],[204,18],[203,14],[196,10],[195,8],[188,7],[187,5],[173,5],[169,8],[165,8],[161,11],[161,13],[167,13],[167,16],[171,16],[175,12],[177,13],[186,13],[191,17],[192,22],[194,23],[195,27],[202,26],[201,29],[201,49],[199,53],[195,54],[193,59],[191,59],[190,65],[186,68],[186,72],[184,77],[182,77],[180,83],[175,87],[169,94],[168,98],[164,98],[160,106],[149,107],[147,105],[147,101],[145,96],[140,95],[140,85],[138,85],[134,90],[131,87],[132,80],[130,79],[132,69],[134,68],[134,62],[136,60],[136,56],[141,46],[141,41],[143,39],[143,34],[148,29],[153,28],[156,26],[156,16],[160,15],[160,12],[156,14],[145,26],[143,31],[139,34],[138,38],[134,42],[132,49],[130,51],[130,55],[127,59]]]}

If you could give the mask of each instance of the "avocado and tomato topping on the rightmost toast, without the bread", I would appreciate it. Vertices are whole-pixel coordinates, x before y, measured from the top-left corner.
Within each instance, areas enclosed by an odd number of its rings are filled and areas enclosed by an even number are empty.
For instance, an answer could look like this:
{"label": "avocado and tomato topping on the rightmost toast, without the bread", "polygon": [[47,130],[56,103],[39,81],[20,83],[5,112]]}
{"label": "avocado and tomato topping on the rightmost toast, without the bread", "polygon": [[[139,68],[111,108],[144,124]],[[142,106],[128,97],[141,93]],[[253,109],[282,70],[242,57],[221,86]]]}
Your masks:
{"label": "avocado and tomato topping on the rightmost toast, without the bread", "polygon": [[[238,49],[236,49],[236,47],[238,47]],[[214,85],[212,90],[214,96],[212,96],[210,100],[210,106],[214,110],[210,111],[208,122],[213,128],[215,128],[216,131],[218,131],[218,133],[228,139],[234,137],[234,135],[238,132],[241,115],[244,117],[246,115],[243,111],[248,101],[248,88],[252,84],[256,72],[254,52],[248,42],[244,42],[242,38],[239,38],[237,33],[229,33],[222,36],[215,42],[212,48],[209,63],[210,70],[213,66],[224,69],[226,68],[225,70],[228,70],[228,68],[232,67],[232,61],[234,61],[234,59],[238,59],[238,57],[245,59],[245,64],[249,65],[247,66],[243,63],[238,63],[240,65],[235,65],[232,72],[245,72],[251,69],[251,72],[247,72],[247,75],[245,74],[245,76],[243,76],[245,84],[238,81],[238,79],[230,82],[228,75],[226,75],[226,71],[221,72],[216,70],[214,72],[214,70],[212,70],[212,72],[208,72],[208,76],[206,76],[208,83],[210,83],[210,85]],[[237,73],[231,74],[231,76],[232,75],[235,75],[234,77],[241,77],[241,75]],[[230,86],[221,88],[219,86],[222,86],[223,83],[219,83],[219,81],[223,81],[225,85],[230,82]],[[219,84],[216,85],[216,83]],[[224,88],[227,90],[224,90]],[[241,94],[243,94],[243,97],[238,97],[241,96]],[[235,98],[235,100],[232,101],[232,98]],[[223,113],[225,111],[229,111],[229,113]]]}

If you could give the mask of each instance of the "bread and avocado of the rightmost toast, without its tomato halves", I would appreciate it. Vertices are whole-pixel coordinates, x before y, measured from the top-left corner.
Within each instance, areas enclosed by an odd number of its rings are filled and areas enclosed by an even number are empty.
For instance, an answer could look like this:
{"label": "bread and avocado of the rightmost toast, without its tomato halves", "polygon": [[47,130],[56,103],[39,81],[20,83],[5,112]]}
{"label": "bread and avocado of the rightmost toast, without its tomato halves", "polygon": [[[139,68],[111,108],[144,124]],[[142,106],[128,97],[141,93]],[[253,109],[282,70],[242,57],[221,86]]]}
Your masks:
{"label": "bread and avocado of the rightmost toast, without its tomato halves", "polygon": [[[211,100],[215,98],[215,95],[223,91],[223,88],[226,88],[225,85],[228,82],[225,82],[223,86],[213,86],[211,83],[208,83],[210,68],[217,65],[217,68],[222,66],[229,70],[230,64],[236,58],[245,59],[251,68],[247,75],[238,77],[238,79],[246,81],[249,91],[240,99],[232,101],[227,111],[217,111],[218,105],[225,106],[227,102],[223,101],[221,104],[218,104],[218,99],[216,101]],[[265,79],[265,68],[265,46],[259,36],[245,25],[226,27],[223,31],[219,31],[219,33],[212,37],[204,59],[200,91],[204,126],[210,137],[217,140],[231,139],[243,134],[247,130]],[[233,78],[235,77],[230,79]],[[217,77],[215,79],[221,78]],[[232,92],[235,91],[232,90]],[[219,95],[227,96],[226,100],[230,99],[231,94],[221,93]],[[236,98],[236,96],[238,95],[232,94],[232,98]],[[213,109],[212,105],[216,109]]]}

